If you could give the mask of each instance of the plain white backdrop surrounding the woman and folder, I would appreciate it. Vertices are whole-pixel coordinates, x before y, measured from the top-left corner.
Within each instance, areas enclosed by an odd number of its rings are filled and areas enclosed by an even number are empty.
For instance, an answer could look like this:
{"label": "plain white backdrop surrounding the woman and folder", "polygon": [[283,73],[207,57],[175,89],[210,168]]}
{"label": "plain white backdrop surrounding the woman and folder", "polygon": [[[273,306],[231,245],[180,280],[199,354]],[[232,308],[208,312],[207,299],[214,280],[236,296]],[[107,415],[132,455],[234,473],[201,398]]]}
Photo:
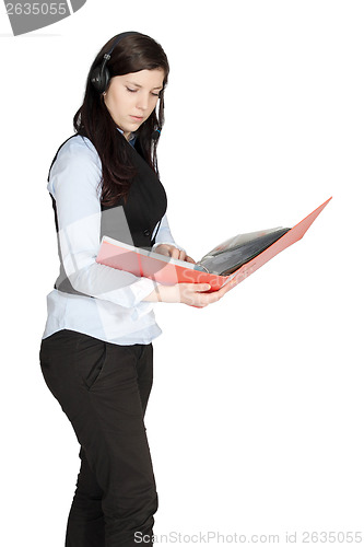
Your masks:
{"label": "plain white backdrop surrounding the woman and folder", "polygon": [[156,305],[154,533],[364,531],[363,15],[351,0],[87,0],[13,37],[2,10],[2,545],[63,545],[79,458],[38,364],[58,274],[46,178],[92,60],[130,30],[169,58],[158,160],[195,259],[333,196],[219,303]]}

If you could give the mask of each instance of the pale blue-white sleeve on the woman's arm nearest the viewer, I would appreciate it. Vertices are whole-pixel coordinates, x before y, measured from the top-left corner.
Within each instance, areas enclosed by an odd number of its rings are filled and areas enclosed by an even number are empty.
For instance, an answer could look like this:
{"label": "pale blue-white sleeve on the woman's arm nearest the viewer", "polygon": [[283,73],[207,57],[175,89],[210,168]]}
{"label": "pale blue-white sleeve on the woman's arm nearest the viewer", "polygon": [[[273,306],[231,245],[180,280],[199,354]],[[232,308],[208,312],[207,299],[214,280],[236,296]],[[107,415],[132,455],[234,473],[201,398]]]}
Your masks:
{"label": "pale blue-white sleeve on the woman's arm nearest the viewer", "polygon": [[91,141],[80,136],[62,147],[50,171],[48,190],[56,199],[66,275],[83,294],[126,307],[139,304],[150,309],[150,302],[141,301],[155,289],[155,281],[95,261],[101,237],[101,178],[98,154]]}

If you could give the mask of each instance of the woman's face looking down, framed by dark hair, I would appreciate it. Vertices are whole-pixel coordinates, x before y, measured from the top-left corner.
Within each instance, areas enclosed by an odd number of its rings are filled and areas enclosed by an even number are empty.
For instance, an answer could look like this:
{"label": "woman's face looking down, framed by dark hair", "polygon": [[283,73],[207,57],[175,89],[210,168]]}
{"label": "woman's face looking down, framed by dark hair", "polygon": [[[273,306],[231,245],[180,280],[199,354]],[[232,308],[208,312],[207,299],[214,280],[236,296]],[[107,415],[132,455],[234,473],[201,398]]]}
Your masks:
{"label": "woman's face looking down, framed by dark hair", "polygon": [[116,125],[126,139],[152,114],[163,89],[164,70],[140,70],[115,75],[110,80],[104,101]]}

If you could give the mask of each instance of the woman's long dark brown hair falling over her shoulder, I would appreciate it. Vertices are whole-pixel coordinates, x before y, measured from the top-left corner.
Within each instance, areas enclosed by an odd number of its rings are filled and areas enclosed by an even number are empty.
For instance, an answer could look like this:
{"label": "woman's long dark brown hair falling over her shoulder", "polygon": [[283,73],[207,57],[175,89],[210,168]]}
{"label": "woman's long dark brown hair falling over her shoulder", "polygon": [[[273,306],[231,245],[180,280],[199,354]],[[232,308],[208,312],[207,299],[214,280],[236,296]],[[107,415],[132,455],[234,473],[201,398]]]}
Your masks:
{"label": "woman's long dark brown hair falling over her shoulder", "polygon": [[[91,72],[103,62],[116,36],[109,39],[97,54],[91,66],[82,106],[73,117],[73,127],[77,133],[87,137],[94,144],[103,168],[102,198],[105,206],[115,205],[122,196],[127,199],[130,185],[136,176],[128,148],[129,144],[109,114],[104,97],[96,91],[90,80]],[[125,36],[114,48],[107,61],[110,78],[124,75],[140,70],[163,69],[163,90],[160,92],[158,113],[156,108],[138,129],[138,147],[144,160],[157,173],[156,146],[157,139],[152,136],[161,130],[164,124],[164,90],[167,84],[169,66],[167,57],[153,38],[145,34],[132,33]]]}

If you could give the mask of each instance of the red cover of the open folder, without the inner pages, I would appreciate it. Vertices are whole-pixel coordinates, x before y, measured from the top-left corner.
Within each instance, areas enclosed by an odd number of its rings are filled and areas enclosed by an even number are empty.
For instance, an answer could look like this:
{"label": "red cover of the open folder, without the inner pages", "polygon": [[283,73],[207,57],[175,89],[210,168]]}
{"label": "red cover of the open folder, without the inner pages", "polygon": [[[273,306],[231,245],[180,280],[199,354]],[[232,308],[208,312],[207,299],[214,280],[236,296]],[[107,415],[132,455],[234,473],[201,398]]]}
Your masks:
{"label": "red cover of the open folder, without the inner pages", "polygon": [[273,256],[301,240],[330,199],[315,209],[270,247],[240,266],[230,276],[216,276],[195,270],[192,264],[133,247],[107,236],[103,237],[96,261],[111,268],[129,271],[138,277],[148,277],[162,284],[209,283],[211,291],[216,291],[231,279],[236,278],[237,283],[239,283]]}

